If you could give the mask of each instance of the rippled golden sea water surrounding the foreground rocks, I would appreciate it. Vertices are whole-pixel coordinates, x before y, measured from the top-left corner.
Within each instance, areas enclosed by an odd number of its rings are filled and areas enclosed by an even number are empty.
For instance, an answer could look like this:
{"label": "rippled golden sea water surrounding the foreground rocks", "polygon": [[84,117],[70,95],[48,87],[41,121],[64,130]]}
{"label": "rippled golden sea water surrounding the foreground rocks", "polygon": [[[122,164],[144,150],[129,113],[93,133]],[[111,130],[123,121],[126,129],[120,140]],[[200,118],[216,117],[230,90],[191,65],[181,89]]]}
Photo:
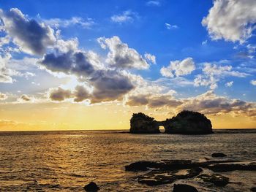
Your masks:
{"label": "rippled golden sea water surrounding the foreground rocks", "polygon": [[[173,183],[149,187],[125,172],[139,160],[210,158],[222,152],[237,161],[256,160],[256,130],[218,130],[215,134],[185,136],[138,135],[122,131],[0,132],[0,191],[83,191],[94,181],[100,191],[172,191]],[[206,172],[209,172],[206,170]],[[256,172],[221,173],[232,184],[220,188],[200,180],[199,191],[249,191]]]}

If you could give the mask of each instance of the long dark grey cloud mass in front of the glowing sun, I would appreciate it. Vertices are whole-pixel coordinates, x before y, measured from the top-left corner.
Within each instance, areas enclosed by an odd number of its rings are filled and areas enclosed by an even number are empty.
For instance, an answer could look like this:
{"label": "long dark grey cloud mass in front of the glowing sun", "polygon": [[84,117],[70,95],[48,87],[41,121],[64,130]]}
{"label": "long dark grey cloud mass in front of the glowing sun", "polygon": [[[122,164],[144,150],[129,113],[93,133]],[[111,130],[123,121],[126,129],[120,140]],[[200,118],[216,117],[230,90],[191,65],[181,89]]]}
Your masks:
{"label": "long dark grey cloud mass in front of the glowing sun", "polygon": [[[102,67],[96,53],[78,50],[78,45],[72,40],[61,42],[53,53],[45,54],[39,64],[50,72],[75,75],[80,82],[88,86],[88,88],[78,86],[75,92],[67,92],[62,88],[53,89],[50,91],[50,99],[53,101],[70,98],[76,102],[85,99],[89,99],[91,103],[114,101],[122,99],[124,94],[135,87],[127,73]],[[90,88],[91,93],[88,91]]]}

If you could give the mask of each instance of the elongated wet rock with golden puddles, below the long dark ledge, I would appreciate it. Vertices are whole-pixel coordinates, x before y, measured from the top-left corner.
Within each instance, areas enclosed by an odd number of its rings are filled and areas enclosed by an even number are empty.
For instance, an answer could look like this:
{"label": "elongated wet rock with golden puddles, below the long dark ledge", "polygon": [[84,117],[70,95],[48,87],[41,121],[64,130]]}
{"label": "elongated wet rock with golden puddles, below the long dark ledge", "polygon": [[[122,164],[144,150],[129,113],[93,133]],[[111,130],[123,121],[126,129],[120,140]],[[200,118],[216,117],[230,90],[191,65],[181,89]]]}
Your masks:
{"label": "elongated wet rock with golden puddles, below the long dark ledge", "polygon": [[181,169],[176,171],[153,170],[138,177],[138,183],[146,185],[162,185],[173,183],[175,180],[192,178],[203,172],[199,167],[192,169]]}

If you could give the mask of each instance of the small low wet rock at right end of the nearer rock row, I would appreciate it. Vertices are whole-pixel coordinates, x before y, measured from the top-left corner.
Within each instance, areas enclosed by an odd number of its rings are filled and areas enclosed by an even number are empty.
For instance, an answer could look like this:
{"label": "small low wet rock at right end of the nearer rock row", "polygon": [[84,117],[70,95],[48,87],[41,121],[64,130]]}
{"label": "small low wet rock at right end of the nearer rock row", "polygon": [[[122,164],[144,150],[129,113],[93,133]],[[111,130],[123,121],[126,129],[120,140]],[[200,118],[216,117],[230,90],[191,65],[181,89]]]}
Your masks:
{"label": "small low wet rock at right end of the nearer rock row", "polygon": [[204,182],[213,183],[216,186],[225,186],[227,183],[229,183],[229,178],[221,174],[200,174],[198,178]]}

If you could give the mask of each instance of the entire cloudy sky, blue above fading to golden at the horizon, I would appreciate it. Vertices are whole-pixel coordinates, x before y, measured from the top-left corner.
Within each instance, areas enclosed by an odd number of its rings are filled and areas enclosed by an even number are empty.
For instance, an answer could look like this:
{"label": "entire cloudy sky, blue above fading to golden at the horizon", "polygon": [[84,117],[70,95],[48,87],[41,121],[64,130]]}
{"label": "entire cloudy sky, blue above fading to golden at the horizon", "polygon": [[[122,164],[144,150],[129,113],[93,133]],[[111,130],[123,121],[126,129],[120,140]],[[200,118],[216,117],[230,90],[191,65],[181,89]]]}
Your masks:
{"label": "entire cloudy sky, blue above fading to golden at the horizon", "polygon": [[0,131],[256,128],[255,34],[255,0],[1,0]]}

